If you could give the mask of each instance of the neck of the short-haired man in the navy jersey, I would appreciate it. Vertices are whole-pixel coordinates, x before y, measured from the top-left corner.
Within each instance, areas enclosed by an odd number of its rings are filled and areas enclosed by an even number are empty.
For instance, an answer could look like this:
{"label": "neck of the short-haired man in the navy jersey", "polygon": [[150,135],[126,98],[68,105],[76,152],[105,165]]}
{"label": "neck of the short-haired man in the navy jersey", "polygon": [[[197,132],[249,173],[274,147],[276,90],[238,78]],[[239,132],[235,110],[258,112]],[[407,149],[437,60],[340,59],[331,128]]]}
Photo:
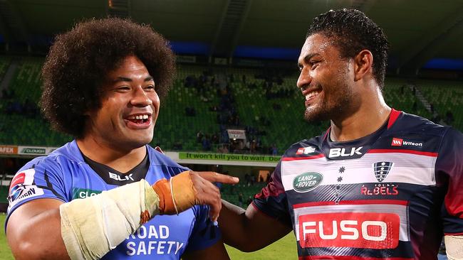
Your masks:
{"label": "neck of the short-haired man in the navy jersey", "polygon": [[389,118],[391,108],[385,104],[383,95],[376,88],[375,94],[366,95],[360,107],[348,116],[331,120],[331,140],[351,141],[373,134]]}

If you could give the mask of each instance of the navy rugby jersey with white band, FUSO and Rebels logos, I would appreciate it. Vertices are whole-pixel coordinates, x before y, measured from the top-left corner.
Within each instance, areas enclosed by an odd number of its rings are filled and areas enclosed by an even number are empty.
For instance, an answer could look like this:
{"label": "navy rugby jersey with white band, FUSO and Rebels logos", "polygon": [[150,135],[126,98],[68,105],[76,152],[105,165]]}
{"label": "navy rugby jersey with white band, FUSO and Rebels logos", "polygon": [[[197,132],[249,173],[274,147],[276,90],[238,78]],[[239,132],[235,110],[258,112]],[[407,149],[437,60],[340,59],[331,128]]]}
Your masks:
{"label": "navy rugby jersey with white band, FUSO and Rebels logos", "polygon": [[463,136],[392,109],[369,136],[293,144],[253,205],[292,224],[299,259],[437,259],[463,235]]}

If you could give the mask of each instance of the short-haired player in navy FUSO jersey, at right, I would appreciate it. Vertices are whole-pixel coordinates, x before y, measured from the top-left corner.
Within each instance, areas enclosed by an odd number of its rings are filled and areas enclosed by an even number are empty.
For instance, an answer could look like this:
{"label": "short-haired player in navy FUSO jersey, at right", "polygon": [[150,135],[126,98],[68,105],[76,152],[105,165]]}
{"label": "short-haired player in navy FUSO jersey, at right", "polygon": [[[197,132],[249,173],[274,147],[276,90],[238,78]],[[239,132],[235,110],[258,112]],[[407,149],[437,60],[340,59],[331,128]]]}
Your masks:
{"label": "short-haired player in navy FUSO jersey, at right", "polygon": [[299,259],[463,259],[463,136],[385,104],[388,42],[355,9],[313,19],[298,58],[307,121],[246,211],[224,202],[224,242],[266,247],[293,229]]}

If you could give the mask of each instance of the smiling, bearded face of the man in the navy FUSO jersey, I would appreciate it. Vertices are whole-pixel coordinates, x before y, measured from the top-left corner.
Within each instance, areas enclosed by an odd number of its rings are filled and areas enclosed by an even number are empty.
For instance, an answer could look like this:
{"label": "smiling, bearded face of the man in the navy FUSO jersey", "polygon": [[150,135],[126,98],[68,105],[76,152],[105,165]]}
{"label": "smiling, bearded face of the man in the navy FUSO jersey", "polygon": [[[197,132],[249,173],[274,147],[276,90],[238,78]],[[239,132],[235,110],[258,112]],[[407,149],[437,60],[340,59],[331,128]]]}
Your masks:
{"label": "smiling, bearded face of the man in the navy FUSO jersey", "polygon": [[352,59],[341,58],[333,39],[320,33],[308,36],[298,67],[297,86],[306,97],[307,121],[343,118],[358,107]]}

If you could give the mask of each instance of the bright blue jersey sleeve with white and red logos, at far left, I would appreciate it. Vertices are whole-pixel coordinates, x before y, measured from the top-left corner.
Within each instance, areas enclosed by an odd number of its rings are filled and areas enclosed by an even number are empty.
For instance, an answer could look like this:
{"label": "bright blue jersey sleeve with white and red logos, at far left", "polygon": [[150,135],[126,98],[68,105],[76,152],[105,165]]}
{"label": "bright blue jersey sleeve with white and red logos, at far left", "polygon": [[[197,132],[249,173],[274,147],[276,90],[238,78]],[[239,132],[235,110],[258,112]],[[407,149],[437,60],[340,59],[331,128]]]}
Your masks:
{"label": "bright blue jersey sleeve with white and red logos, at far left", "polygon": [[28,201],[54,198],[68,202],[60,167],[53,162],[43,157],[35,158],[14,175],[9,188],[5,227],[11,212]]}

